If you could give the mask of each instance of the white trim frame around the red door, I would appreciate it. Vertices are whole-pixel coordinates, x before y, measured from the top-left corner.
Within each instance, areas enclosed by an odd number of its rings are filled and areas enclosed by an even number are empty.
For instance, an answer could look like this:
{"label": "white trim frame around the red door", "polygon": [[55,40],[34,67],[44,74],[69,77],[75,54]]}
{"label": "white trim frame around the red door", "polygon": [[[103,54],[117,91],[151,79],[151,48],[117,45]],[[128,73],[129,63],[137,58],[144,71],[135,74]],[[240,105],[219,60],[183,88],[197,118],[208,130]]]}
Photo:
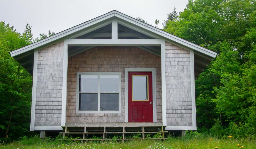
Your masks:
{"label": "white trim frame around the red door", "polygon": [[156,96],[156,69],[155,68],[125,68],[125,122],[128,123],[128,72],[152,72],[152,89],[153,89],[153,122],[157,122],[157,96]]}

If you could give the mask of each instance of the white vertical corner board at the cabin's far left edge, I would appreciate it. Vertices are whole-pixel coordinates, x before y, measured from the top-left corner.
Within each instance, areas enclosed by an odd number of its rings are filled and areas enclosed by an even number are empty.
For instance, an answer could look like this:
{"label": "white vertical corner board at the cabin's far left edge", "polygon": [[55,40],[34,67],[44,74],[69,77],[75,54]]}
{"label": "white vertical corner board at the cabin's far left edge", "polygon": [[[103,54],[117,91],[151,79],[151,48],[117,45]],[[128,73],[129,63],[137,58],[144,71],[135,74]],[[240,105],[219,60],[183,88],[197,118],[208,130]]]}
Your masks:
{"label": "white vertical corner board at the cabin's far left edge", "polygon": [[34,131],[34,127],[35,127],[37,62],[38,62],[38,50],[35,49],[34,50],[34,69],[33,69],[33,84],[32,84],[30,131]]}

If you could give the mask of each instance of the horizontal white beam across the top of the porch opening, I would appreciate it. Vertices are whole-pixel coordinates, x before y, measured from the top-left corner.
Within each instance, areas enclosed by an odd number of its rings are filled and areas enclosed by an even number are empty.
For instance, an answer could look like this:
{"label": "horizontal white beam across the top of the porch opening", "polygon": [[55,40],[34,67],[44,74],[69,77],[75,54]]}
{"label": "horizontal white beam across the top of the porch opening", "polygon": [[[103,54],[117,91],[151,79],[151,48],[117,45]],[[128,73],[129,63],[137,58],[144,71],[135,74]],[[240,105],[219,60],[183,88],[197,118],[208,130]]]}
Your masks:
{"label": "horizontal white beam across the top of the porch opening", "polygon": [[162,39],[67,39],[68,45],[161,45]]}

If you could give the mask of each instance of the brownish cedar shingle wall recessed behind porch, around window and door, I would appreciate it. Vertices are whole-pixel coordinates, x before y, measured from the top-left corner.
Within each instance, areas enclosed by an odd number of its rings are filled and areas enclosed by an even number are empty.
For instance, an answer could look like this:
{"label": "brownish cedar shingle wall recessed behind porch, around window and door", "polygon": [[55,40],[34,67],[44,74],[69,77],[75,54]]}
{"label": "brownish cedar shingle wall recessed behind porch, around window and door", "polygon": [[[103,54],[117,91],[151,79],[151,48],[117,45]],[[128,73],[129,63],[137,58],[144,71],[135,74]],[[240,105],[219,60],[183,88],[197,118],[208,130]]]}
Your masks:
{"label": "brownish cedar shingle wall recessed behind porch, around window and door", "polygon": [[[124,69],[156,68],[157,122],[162,122],[161,57],[137,47],[98,46],[68,59],[67,123],[123,123]],[[77,72],[122,72],[120,114],[76,114]]]}

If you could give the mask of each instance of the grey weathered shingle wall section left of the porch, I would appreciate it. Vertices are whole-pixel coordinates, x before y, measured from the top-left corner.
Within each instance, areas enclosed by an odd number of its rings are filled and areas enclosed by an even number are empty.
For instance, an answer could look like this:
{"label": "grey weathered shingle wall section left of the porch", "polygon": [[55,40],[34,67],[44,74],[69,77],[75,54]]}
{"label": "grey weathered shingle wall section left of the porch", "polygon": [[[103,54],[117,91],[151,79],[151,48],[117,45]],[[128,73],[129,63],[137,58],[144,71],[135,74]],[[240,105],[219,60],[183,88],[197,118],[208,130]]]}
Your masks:
{"label": "grey weathered shingle wall section left of the porch", "polygon": [[35,126],[61,126],[63,44],[38,50]]}

